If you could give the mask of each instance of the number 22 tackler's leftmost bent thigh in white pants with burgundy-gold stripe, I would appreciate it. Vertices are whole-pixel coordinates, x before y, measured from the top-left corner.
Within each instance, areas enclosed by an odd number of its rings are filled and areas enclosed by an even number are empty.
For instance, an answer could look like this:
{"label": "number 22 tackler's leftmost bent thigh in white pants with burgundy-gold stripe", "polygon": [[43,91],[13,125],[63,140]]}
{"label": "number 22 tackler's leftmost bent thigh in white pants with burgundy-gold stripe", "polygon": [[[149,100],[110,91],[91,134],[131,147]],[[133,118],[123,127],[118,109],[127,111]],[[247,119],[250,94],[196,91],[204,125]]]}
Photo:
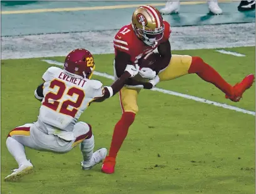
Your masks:
{"label": "number 22 tackler's leftmost bent thigh in white pants with burgundy-gold stripe", "polygon": [[39,150],[38,145],[34,143],[33,135],[31,135],[31,129],[34,127],[34,124],[25,124],[19,127],[14,128],[9,132],[8,137],[14,138],[16,141],[21,143],[26,147],[30,147],[36,150]]}

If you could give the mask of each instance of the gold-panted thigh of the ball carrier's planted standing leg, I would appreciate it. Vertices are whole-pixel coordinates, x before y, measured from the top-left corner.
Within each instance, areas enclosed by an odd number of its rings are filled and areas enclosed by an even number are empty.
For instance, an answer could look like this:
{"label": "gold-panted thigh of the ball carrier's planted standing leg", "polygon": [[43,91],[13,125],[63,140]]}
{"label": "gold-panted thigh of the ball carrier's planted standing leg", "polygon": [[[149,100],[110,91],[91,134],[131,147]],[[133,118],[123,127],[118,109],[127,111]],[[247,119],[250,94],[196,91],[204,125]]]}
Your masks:
{"label": "gold-panted thigh of the ball carrier's planted standing leg", "polygon": [[123,87],[119,92],[121,109],[123,112],[138,112],[138,94],[140,89],[128,89]]}

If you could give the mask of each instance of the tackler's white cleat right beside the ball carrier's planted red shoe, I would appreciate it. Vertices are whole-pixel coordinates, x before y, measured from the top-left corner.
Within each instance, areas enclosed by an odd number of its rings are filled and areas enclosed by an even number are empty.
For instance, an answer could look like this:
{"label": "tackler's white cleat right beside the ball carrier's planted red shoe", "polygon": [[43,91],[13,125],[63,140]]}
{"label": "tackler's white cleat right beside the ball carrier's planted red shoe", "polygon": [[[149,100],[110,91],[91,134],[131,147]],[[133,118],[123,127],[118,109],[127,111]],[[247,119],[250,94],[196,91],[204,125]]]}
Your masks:
{"label": "tackler's white cleat right beside the ball carrier's planted red shoe", "polygon": [[93,168],[96,164],[102,162],[106,158],[106,154],[108,153],[108,150],[106,148],[101,148],[99,150],[96,150],[93,153],[93,157],[91,158],[91,162],[88,164],[85,164],[83,161],[81,162],[81,166],[83,170],[90,170]]}

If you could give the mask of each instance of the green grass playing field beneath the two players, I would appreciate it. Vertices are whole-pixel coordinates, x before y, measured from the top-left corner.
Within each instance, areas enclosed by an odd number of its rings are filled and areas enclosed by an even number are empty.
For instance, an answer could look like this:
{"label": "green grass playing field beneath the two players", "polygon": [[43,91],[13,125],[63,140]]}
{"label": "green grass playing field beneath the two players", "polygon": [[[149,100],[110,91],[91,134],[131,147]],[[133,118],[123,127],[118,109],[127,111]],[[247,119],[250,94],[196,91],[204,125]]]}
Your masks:
{"label": "green grass playing field beneath the two players", "polygon": [[[230,84],[255,72],[255,47],[225,50],[246,57],[213,49],[173,53],[201,56]],[[47,59],[64,61],[64,57]],[[113,74],[112,61],[113,54],[95,55],[96,70]],[[79,147],[64,155],[26,148],[34,173],[18,182],[3,182],[17,167],[6,148],[6,136],[14,127],[36,121],[40,102],[34,99],[34,89],[48,67],[41,59],[1,61],[2,193],[255,193],[255,116],[151,90],[140,93],[140,111],[120,150],[113,175],[101,173],[101,165],[81,170]],[[96,75],[93,79],[105,85],[112,82]],[[158,87],[255,111],[254,85],[238,103],[225,99],[214,85],[197,75],[163,82]],[[95,149],[109,148],[120,116],[118,95],[92,104],[84,112],[80,120],[93,126]]]}

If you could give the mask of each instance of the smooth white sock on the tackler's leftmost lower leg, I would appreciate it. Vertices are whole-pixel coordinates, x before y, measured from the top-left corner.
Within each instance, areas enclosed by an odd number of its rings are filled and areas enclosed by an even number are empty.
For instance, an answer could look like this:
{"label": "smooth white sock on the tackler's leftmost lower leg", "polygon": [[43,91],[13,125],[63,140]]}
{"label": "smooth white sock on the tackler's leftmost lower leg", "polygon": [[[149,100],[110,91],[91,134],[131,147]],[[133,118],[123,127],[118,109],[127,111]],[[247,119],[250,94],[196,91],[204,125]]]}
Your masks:
{"label": "smooth white sock on the tackler's leftmost lower leg", "polygon": [[13,155],[13,157],[15,158],[19,167],[24,163],[28,162],[25,154],[24,145],[16,141],[14,138],[8,137],[6,140],[6,146],[11,155]]}

